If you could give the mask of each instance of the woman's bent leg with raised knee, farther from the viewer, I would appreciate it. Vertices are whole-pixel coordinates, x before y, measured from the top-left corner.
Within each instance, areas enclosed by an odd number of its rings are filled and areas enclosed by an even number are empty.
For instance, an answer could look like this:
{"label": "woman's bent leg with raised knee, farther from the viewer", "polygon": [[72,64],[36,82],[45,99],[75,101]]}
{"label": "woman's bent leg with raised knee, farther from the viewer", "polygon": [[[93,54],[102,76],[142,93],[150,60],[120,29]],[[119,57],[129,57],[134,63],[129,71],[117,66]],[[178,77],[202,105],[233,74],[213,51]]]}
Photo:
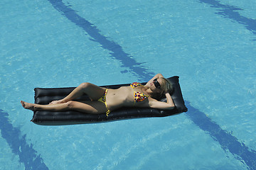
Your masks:
{"label": "woman's bent leg with raised knee, farther from the viewer", "polygon": [[59,101],[52,101],[50,102],[50,104],[66,103],[68,101],[74,100],[75,98],[79,98],[83,94],[87,94],[92,100],[95,101],[99,99],[102,96],[102,94],[104,94],[105,90],[106,88],[96,86],[95,84],[82,83],[65,98]]}

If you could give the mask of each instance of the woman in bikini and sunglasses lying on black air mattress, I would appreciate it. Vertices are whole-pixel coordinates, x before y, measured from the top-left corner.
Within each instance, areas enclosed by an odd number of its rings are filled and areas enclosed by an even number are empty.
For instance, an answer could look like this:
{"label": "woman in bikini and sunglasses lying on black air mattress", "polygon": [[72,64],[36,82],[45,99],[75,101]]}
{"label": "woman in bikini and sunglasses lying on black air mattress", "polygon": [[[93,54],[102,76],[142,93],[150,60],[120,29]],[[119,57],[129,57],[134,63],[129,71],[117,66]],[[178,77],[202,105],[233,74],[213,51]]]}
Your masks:
{"label": "woman in bikini and sunglasses lying on black air mattress", "polygon": [[[82,113],[101,114],[114,111],[122,107],[173,109],[174,101],[169,92],[171,84],[162,74],[156,74],[145,86],[137,82],[130,86],[121,86],[119,89],[106,89],[95,84],[82,83],[68,96],[52,101],[48,105],[39,105],[21,101],[23,108],[31,111],[79,111]],[[87,94],[91,101],[73,101],[83,94]],[[167,103],[157,101],[157,98],[166,96]]]}

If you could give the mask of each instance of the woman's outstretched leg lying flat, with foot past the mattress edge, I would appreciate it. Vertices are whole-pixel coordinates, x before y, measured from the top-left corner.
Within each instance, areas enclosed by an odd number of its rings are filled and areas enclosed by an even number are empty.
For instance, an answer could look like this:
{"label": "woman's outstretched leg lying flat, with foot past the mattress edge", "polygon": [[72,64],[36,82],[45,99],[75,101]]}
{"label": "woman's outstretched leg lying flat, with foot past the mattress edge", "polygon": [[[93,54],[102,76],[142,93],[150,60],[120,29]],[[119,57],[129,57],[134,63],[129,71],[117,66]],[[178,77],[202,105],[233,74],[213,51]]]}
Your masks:
{"label": "woman's outstretched leg lying flat, with foot past the mattress edge", "polygon": [[106,113],[107,111],[105,103],[100,101],[85,101],[85,103],[78,101],[68,101],[66,103],[48,105],[39,105],[21,101],[21,105],[23,108],[29,109],[31,111],[79,111],[82,113],[93,114]]}

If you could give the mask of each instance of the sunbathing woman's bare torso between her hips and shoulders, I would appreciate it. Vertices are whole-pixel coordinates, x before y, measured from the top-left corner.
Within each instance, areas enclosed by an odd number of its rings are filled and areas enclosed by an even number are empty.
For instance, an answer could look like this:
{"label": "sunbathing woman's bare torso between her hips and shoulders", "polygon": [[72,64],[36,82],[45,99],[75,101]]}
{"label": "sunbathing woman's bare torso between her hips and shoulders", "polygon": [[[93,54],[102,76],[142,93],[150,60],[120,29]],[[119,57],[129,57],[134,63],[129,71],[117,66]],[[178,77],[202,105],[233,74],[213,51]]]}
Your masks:
{"label": "sunbathing woman's bare torso between her hips and shoulders", "polygon": [[[132,86],[122,86],[119,89],[108,89],[106,101],[107,106],[110,110],[115,110],[121,107],[145,107],[148,102],[146,100],[135,102],[134,101],[134,91],[141,92],[142,94],[146,94],[145,86],[136,86],[132,88]],[[146,99],[146,98],[145,98]]]}

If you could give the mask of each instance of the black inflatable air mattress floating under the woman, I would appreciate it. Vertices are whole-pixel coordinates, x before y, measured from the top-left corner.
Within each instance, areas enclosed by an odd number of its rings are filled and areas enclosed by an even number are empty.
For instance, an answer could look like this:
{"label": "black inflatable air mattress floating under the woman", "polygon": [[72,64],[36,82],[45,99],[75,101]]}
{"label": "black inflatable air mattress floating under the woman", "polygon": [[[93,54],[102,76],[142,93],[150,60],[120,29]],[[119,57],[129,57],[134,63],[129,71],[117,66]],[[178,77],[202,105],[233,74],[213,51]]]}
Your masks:
{"label": "black inflatable air mattress floating under the woman", "polygon": [[[102,123],[113,120],[124,120],[129,118],[145,118],[145,117],[164,117],[188,111],[183,101],[181,94],[181,87],[178,82],[179,77],[170,77],[169,81],[174,87],[171,98],[174,100],[175,108],[173,110],[158,110],[155,108],[120,108],[117,111],[111,111],[107,116],[106,114],[87,114],[77,111],[35,111],[33,113],[32,122],[38,125],[74,125],[82,123]],[[146,83],[143,83],[146,84]],[[118,89],[120,86],[129,86],[129,84],[118,84],[103,86],[108,89]],[[35,90],[35,103],[48,104],[50,101],[60,100],[68,96],[75,87],[68,88],[36,88]],[[77,98],[76,101],[90,100],[88,96],[84,95]],[[163,98],[161,101],[166,101]]]}

